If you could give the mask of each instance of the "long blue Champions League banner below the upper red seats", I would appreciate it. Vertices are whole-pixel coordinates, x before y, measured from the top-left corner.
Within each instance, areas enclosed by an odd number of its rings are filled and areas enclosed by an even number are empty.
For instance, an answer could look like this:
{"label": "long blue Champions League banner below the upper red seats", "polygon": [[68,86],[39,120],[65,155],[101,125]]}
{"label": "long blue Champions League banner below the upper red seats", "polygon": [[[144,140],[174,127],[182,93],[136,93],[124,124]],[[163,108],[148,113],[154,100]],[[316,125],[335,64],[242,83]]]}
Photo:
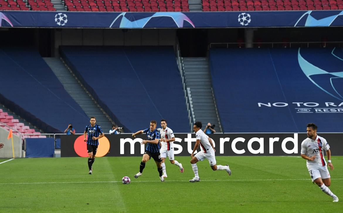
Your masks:
{"label": "long blue Champions League banner below the upper red seats", "polygon": [[68,12],[1,11],[2,27],[194,28],[343,26],[343,11]]}

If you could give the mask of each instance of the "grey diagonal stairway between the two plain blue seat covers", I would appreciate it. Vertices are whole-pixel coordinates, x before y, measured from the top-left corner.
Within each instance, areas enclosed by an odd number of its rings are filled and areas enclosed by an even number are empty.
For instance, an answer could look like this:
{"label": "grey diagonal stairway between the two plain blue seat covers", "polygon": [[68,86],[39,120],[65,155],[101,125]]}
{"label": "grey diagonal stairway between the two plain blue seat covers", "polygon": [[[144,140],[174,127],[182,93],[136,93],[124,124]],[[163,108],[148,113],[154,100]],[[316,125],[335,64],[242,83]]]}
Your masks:
{"label": "grey diagonal stairway between the two plain blue seat covers", "polygon": [[[101,126],[104,133],[112,128],[114,122],[100,108],[93,97],[82,86],[79,80],[69,70],[69,68],[59,58],[43,58],[55,73],[58,80],[62,83],[64,89],[78,103],[88,117],[96,117],[96,123]],[[72,121],[71,121],[72,123]],[[85,124],[86,125],[86,124]],[[76,133],[83,133],[84,130],[76,130]]]}

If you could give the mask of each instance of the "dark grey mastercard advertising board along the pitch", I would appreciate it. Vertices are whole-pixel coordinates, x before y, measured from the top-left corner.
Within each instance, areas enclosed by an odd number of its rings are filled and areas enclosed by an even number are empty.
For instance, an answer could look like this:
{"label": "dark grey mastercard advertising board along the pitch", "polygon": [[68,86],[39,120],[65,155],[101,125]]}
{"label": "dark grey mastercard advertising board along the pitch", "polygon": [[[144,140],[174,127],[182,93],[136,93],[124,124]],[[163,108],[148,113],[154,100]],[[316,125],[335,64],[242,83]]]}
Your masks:
{"label": "dark grey mastercard advertising board along the pitch", "polygon": [[[174,154],[188,156],[196,138],[191,133],[175,133]],[[318,133],[327,139],[331,155],[343,155],[343,133]],[[140,145],[144,134],[132,138],[131,134],[108,135],[110,143],[106,156],[141,156],[144,146]],[[216,156],[300,156],[301,142],[306,133],[224,133],[209,135],[216,149]],[[77,157],[74,142],[79,135],[61,135],[61,157]],[[81,136],[83,139],[83,136]],[[99,149],[99,148],[98,148]],[[200,148],[198,148],[200,150]]]}

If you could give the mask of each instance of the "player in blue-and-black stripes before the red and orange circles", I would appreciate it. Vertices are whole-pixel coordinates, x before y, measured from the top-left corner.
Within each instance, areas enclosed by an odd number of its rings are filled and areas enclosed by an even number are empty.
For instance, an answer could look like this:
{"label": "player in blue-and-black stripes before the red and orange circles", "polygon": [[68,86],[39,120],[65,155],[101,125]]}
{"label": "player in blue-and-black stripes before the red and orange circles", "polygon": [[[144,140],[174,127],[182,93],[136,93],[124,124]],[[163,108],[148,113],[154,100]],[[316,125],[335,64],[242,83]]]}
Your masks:
{"label": "player in blue-and-black stripes before the red and orange circles", "polygon": [[[92,165],[95,160],[96,151],[98,150],[99,138],[102,138],[105,135],[101,127],[95,124],[96,122],[95,117],[91,117],[89,122],[90,124],[86,126],[83,135],[84,135],[84,142],[87,142],[88,168],[89,168],[88,174],[92,175],[92,172],[93,172]],[[87,138],[86,138],[86,134],[88,134]]]}

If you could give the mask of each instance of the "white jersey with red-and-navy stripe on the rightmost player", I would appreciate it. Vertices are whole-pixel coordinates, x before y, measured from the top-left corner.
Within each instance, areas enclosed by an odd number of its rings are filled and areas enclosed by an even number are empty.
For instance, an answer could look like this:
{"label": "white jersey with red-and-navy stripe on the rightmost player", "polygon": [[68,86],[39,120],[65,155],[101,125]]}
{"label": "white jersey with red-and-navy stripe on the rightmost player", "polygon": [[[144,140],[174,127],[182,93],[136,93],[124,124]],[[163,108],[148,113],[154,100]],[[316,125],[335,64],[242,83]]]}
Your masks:
{"label": "white jersey with red-and-navy stripe on the rightmost player", "polygon": [[314,169],[321,166],[326,166],[324,158],[324,150],[329,150],[330,146],[325,138],[317,135],[315,140],[306,138],[301,143],[301,154],[306,154],[309,157],[316,156],[316,159],[311,161],[307,160],[306,166],[308,169]]}

